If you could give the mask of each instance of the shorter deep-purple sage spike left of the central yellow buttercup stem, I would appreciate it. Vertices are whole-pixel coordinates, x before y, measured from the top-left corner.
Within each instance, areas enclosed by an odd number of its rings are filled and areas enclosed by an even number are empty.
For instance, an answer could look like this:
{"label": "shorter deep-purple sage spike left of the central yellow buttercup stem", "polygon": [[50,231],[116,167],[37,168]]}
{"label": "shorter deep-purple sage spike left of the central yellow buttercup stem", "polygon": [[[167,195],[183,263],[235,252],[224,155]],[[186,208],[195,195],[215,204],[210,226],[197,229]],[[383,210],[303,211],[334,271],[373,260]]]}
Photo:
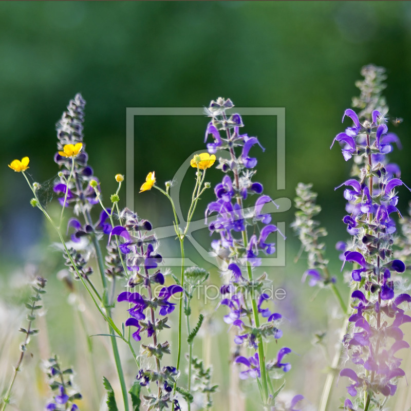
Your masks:
{"label": "shorter deep-purple sage spike left of the central yellow buttercup stem", "polygon": [[167,341],[160,343],[158,334],[161,330],[170,328],[167,325],[167,314],[172,313],[176,305],[170,301],[170,298],[176,293],[181,293],[183,289],[179,285],[171,285],[162,287],[158,295],[154,295],[152,286],[164,285],[165,278],[158,269],[162,257],[157,252],[158,242],[155,234],[151,232],[152,225],[128,209],[120,214],[120,221],[124,221],[123,226],[114,227],[109,239],[118,236],[124,240],[119,249],[123,254],[127,270],[131,273],[128,287],[133,289],[141,286],[146,293],[142,295],[139,292],[123,291],[118,295],[117,301],[126,301],[130,304],[127,310],[130,316],[125,321],[125,326],[135,327],[133,338],[136,341],[141,341],[142,332],[146,332],[147,337],[153,339],[153,344],[141,344],[140,350],[147,357],[156,359],[156,369],[141,368],[137,380],[140,381],[141,386],[147,386],[152,382],[158,386],[156,396],[144,397],[151,408],[161,410],[169,407],[169,402],[173,401],[174,409],[180,409],[178,400],[173,399],[171,395],[179,371],[174,366],[160,366],[163,355],[170,354],[170,344]]}

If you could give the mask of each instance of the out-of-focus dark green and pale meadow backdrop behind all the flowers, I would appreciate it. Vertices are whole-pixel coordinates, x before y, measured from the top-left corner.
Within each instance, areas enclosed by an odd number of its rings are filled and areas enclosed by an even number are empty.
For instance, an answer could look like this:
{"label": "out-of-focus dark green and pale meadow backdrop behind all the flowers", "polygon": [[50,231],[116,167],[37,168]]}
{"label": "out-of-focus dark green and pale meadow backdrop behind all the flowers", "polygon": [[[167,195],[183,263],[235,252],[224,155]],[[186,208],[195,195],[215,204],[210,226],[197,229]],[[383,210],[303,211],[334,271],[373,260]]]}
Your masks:
{"label": "out-of-focus dark green and pale meadow backdrop behind all the flowers", "polygon": [[[75,381],[84,397],[82,411],[101,406],[103,375],[110,377],[116,395],[118,392],[108,339],[87,338],[105,329],[104,322],[86,301],[81,284],[70,288],[62,274],[58,275],[65,268],[64,261],[59,249],[50,246],[58,238],[39,210],[30,206],[31,193],[24,178],[7,167],[14,158],[29,156],[28,174],[43,184],[45,195],[51,194],[50,181],[58,173],[53,161],[57,147],[54,125],[77,92],[87,101],[89,164],[107,201],[117,187],[114,175],[126,171],[127,107],[203,107],[219,96],[230,98],[237,107],[285,107],[285,190],[276,189],[276,119],[243,118],[245,132],[256,135],[266,149],[262,153],[253,148],[258,159],[257,179],[274,199],[292,200],[299,181],[314,184],[323,208],[319,219],[329,232],[327,257],[346,298],[348,289],[342,283],[341,261],[334,249],[335,242],[348,238],[341,221],[345,202],[342,191],[334,191],[334,187],[348,178],[350,164],[337,147],[331,151],[329,147],[343,130],[343,111],[350,107],[351,98],[359,95],[354,82],[361,78],[365,64],[387,69],[389,115],[404,119],[395,130],[403,149],[390,159],[400,165],[403,181],[411,184],[409,2],[2,2],[0,62],[0,185],[4,190],[0,196],[1,391],[18,358],[22,335],[17,330],[24,324],[28,282],[33,273],[48,279],[44,315],[36,323],[40,333],[29,346],[32,355],[25,359],[24,372],[17,377],[16,410],[43,409],[50,393],[41,362],[53,353],[76,370]],[[204,151],[207,123],[205,116],[135,119],[135,206],[154,227],[172,225],[170,205],[155,190],[137,194],[139,186],[153,170],[162,186],[193,152]],[[183,181],[183,210],[188,207],[193,176],[190,170]],[[208,171],[212,186],[220,179],[220,171]],[[124,207],[125,190],[120,197]],[[212,190],[204,194],[194,219],[203,218],[213,197]],[[410,199],[411,193],[401,189],[399,209],[403,214]],[[49,210],[59,213],[57,201],[49,204]],[[289,227],[294,212],[291,207],[273,218],[286,223],[286,265],[271,268],[269,276],[275,288],[287,291],[287,297],[273,308],[286,321],[284,337],[277,347],[268,347],[268,356],[274,356],[280,346],[293,348],[286,390],[303,394],[315,410],[327,362],[321,347],[311,341],[314,332],[331,330],[325,351],[332,357],[341,322],[327,290],[317,292],[301,284],[306,261],[303,256],[295,262],[300,244]],[[207,228],[198,230],[195,239],[210,249]],[[173,238],[165,239],[163,247],[164,255],[179,256]],[[217,268],[204,263],[194,248],[188,250],[194,263],[210,270],[212,282],[219,285]],[[122,291],[120,285],[118,291]],[[199,302],[195,309],[210,313],[203,343],[196,349],[203,350],[213,364],[214,380],[220,385],[213,408],[217,411],[233,408],[229,408],[227,325],[222,322],[225,309],[215,311],[216,304],[211,301],[204,307]],[[116,308],[119,324],[124,314]],[[404,327],[408,337],[409,327]],[[165,333],[175,344],[173,328]],[[91,357],[89,350],[96,355]],[[121,354],[125,360],[127,353]],[[403,357],[404,369],[410,379],[411,356],[407,356]],[[131,361],[126,364],[128,381],[132,381],[136,370]],[[330,409],[336,409],[345,396],[345,383],[341,381],[334,390],[334,408]],[[252,400],[255,387],[241,387],[244,409],[256,409]],[[96,392],[98,396],[91,394]],[[411,406],[405,381],[401,381],[395,401],[389,403],[391,409],[405,411]]]}

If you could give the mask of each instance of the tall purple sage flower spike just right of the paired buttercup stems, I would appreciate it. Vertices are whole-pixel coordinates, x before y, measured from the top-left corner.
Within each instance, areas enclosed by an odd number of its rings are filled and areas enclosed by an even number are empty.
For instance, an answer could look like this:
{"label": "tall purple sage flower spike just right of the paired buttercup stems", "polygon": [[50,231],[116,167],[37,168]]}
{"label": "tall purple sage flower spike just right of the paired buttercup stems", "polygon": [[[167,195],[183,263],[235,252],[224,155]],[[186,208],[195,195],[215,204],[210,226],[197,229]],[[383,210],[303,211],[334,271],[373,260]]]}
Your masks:
{"label": "tall purple sage flower spike just right of the paired buttercup stems", "polygon": [[[217,233],[219,238],[212,241],[212,248],[226,262],[226,272],[229,273],[228,284],[221,287],[221,305],[229,308],[224,321],[238,330],[235,344],[258,350],[249,358],[236,358],[235,362],[245,367],[240,372],[240,378],[261,378],[264,390],[270,367],[263,358],[263,340],[282,337],[283,333],[278,328],[282,315],[266,308],[269,299],[268,294],[264,293],[264,286],[269,283],[267,274],[254,279],[253,271],[261,264],[261,252],[275,253],[275,243],[269,236],[274,232],[283,234],[271,223],[271,215],[263,210],[264,205],[273,200],[263,194],[261,183],[252,180],[257,159],[250,156],[251,148],[259,146],[263,151],[264,148],[256,137],[241,134],[240,129],[244,126],[241,116],[226,113],[233,107],[230,99],[218,98],[206,110],[211,121],[207,126],[205,142],[210,135],[213,139],[207,144],[209,153],[229,153],[228,159],[218,159],[217,168],[225,175],[214,188],[216,199],[208,205],[206,219],[211,215],[214,217],[208,222],[208,227],[211,234]],[[257,198],[251,207],[245,209],[244,203],[252,195],[257,195]],[[260,317],[263,319],[261,324]],[[283,357],[290,352],[288,347],[279,350],[271,368],[288,371],[291,365],[284,363]],[[262,397],[263,402],[267,403],[267,393],[263,393]]]}

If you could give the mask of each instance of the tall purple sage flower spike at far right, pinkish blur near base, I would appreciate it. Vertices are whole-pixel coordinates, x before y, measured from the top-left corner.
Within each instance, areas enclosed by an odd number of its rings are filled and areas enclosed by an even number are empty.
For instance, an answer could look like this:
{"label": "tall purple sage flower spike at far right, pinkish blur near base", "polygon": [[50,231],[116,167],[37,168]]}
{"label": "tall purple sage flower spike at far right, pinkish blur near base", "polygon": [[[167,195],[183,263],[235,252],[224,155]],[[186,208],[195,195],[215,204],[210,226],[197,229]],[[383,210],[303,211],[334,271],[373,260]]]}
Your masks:
{"label": "tall purple sage flower spike at far right, pinkish blur near base", "polygon": [[[405,271],[405,264],[393,258],[393,215],[399,214],[395,189],[405,184],[393,175],[395,167],[385,163],[385,155],[392,150],[393,142],[398,143],[398,137],[388,133],[380,111],[373,110],[362,122],[352,109],[345,110],[343,121],[346,116],[353,125],[338,134],[333,143],[342,143],[345,160],[357,156],[357,164],[362,166],[358,179],[348,179],[339,186],[346,187],[349,214],[343,221],[353,236],[352,245],[344,251],[344,263],[355,264],[351,270],[353,313],[344,346],[357,369],[344,368],[340,375],[352,381],[348,386],[352,397],[367,393],[368,409],[371,398],[394,395],[398,378],[405,375],[396,353],[409,347],[400,326],[411,322],[404,313],[411,297],[395,292],[396,276]],[[350,400],[345,405],[353,409]]]}

